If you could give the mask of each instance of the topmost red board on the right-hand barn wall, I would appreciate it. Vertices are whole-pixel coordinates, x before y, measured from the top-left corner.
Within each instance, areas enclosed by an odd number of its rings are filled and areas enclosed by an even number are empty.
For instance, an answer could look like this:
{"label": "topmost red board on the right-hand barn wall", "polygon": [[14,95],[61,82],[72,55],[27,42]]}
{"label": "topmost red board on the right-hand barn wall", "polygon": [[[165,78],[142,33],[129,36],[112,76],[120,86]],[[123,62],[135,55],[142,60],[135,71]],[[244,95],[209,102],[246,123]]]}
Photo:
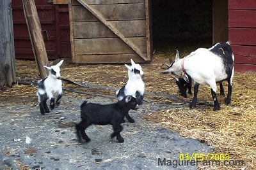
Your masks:
{"label": "topmost red board on the right-hand barn wall", "polygon": [[228,0],[228,9],[256,10],[255,0]]}

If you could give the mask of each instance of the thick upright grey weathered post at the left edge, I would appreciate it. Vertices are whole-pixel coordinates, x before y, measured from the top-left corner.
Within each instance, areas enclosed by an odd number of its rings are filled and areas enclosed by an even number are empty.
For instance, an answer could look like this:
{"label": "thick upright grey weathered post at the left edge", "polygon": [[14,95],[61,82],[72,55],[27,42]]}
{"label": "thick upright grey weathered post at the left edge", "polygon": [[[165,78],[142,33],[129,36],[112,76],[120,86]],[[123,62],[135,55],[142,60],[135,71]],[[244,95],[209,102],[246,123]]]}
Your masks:
{"label": "thick upright grey weathered post at the left edge", "polygon": [[0,1],[0,87],[16,83],[12,1]]}

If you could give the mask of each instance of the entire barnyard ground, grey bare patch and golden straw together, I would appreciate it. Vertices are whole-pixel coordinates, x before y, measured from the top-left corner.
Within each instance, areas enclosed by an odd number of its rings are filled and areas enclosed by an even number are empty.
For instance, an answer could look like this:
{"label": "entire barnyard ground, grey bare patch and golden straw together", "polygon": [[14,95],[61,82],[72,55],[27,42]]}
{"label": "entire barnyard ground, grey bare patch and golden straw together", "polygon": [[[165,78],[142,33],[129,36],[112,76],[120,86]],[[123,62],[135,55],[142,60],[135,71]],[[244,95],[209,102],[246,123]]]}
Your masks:
{"label": "entire barnyard ground, grey bare patch and golden straw together", "polygon": [[[60,106],[40,115],[35,61],[16,62],[18,83],[0,91],[0,169],[226,169],[158,165],[159,158],[179,160],[180,153],[212,152],[247,161],[246,166],[229,169],[253,169],[256,86],[249,84],[255,83],[255,74],[235,74],[232,104],[225,106],[225,97],[218,96],[221,111],[212,111],[209,87],[200,87],[199,104],[191,111],[188,103],[193,96],[180,97],[172,75],[159,74],[168,59],[157,57],[151,64],[141,64],[146,101],[140,110],[130,112],[134,124],[122,124],[124,143],[110,138],[111,126],[92,125],[86,129],[92,141],[80,144],[74,133],[74,124],[80,121],[79,104],[115,102],[115,90],[127,81],[124,65],[65,60],[61,76],[80,86],[65,82]],[[26,143],[27,137],[31,143]]]}

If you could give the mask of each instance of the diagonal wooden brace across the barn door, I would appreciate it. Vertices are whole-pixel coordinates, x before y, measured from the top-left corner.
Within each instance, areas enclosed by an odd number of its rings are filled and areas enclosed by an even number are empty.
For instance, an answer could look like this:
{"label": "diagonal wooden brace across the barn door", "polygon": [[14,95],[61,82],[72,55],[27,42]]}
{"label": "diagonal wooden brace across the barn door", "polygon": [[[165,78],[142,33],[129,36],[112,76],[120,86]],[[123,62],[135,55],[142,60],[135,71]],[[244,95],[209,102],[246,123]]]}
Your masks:
{"label": "diagonal wooden brace across the barn door", "polygon": [[109,22],[104,18],[104,16],[102,16],[99,11],[94,10],[88,3],[84,2],[84,0],[77,0],[79,3],[81,3],[84,8],[86,8],[88,11],[90,11],[95,17],[97,17],[104,25],[106,25],[111,31],[113,31],[116,36],[118,36],[120,39],[122,39],[128,46],[130,46],[132,48],[132,50],[134,50],[134,52],[138,53],[138,55],[140,55],[141,58],[143,58],[144,60],[148,61],[150,59],[148,59],[147,56],[145,56],[141,50],[135,46],[131,41],[129,41],[127,38],[125,38],[123,36],[123,34],[118,31],[118,29],[116,29],[113,25],[109,24]]}

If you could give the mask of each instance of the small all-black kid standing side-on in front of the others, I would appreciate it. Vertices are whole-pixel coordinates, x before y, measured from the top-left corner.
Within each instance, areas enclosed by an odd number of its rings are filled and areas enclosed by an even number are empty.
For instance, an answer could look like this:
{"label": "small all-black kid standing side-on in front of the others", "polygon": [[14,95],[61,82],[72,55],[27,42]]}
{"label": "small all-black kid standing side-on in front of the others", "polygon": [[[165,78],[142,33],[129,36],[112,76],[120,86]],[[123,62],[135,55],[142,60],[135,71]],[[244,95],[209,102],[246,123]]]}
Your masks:
{"label": "small all-black kid standing side-on in front of the others", "polygon": [[113,104],[96,104],[87,103],[84,101],[81,104],[81,122],[76,124],[76,134],[79,141],[83,138],[86,142],[90,142],[91,139],[87,136],[84,130],[92,125],[112,125],[114,132],[111,134],[111,138],[116,136],[119,143],[124,142],[124,138],[120,135],[122,131],[122,122],[125,115],[129,110],[137,105],[136,98],[133,96],[125,96],[121,101]]}

